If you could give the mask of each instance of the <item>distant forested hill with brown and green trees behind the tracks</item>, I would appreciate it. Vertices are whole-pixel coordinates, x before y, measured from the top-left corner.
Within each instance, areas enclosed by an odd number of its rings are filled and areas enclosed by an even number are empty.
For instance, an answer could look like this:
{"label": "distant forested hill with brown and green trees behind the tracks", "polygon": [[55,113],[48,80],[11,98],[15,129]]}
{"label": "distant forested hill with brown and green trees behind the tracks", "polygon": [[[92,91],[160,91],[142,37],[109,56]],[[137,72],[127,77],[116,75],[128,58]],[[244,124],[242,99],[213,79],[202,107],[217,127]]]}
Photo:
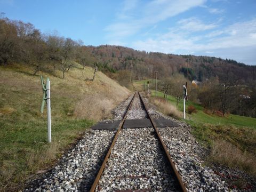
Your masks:
{"label": "distant forested hill with brown and green trees behind the tracks", "polygon": [[128,47],[101,45],[85,46],[92,57],[102,62],[109,71],[132,70],[135,79],[153,77],[157,70],[159,76],[166,77],[174,73],[183,73],[190,80],[203,81],[212,76],[222,78],[234,76],[241,83],[256,80],[256,67],[248,66],[230,59],[207,56],[174,55],[158,52],[137,51]]}

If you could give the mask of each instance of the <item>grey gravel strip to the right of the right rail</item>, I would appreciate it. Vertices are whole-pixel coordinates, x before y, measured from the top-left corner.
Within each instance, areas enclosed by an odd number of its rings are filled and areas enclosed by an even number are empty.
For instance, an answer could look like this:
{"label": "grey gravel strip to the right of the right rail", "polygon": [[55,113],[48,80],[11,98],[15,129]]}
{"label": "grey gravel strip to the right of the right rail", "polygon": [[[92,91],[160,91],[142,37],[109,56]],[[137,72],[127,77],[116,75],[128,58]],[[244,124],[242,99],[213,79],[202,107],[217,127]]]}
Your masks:
{"label": "grey gravel strip to the right of the right rail", "polygon": [[[146,97],[143,97],[143,101],[153,118],[172,119],[180,125],[158,130],[188,191],[256,191],[255,180],[243,171],[224,166],[206,166],[204,158],[209,153],[209,149],[204,148],[195,140],[191,134],[191,127],[185,122],[159,113]],[[247,181],[245,189],[234,189],[235,178]]]}

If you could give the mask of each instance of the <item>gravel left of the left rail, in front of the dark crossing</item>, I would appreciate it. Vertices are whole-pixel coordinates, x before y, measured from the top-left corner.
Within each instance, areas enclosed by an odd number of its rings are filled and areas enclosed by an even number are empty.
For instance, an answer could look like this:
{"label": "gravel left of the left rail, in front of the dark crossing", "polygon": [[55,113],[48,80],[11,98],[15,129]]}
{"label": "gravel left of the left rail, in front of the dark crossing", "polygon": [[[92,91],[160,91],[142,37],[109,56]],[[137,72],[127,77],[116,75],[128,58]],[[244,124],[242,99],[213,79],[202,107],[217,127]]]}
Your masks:
{"label": "gravel left of the left rail, in front of the dark crossing", "polygon": [[25,191],[87,190],[97,174],[102,156],[108,149],[114,132],[87,131],[77,145],[64,155],[54,169],[31,183]]}

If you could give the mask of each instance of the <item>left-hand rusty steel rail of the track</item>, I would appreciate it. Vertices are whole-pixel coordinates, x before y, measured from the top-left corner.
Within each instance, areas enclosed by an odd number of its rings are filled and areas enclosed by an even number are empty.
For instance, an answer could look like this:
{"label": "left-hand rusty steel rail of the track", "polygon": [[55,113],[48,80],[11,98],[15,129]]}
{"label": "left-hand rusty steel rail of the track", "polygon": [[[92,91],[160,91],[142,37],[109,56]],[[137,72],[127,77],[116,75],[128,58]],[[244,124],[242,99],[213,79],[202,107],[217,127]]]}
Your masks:
{"label": "left-hand rusty steel rail of the track", "polygon": [[106,155],[106,157],[105,157],[105,159],[104,159],[104,161],[103,161],[103,163],[102,163],[102,165],[101,165],[101,167],[100,167],[100,170],[99,170],[99,172],[98,172],[98,174],[97,174],[97,176],[96,176],[96,178],[95,178],[95,180],[94,180],[94,182],[93,182],[93,184],[92,184],[92,187],[91,187],[91,189],[90,189],[90,192],[93,192],[93,191],[96,189],[97,185],[98,185],[98,182],[99,182],[99,180],[100,180],[101,174],[103,173],[103,170],[105,169],[106,163],[107,163],[108,158],[109,158],[110,153],[111,153],[111,150],[113,149],[113,147],[114,147],[114,145],[115,145],[115,142],[116,142],[116,140],[117,140],[117,137],[118,137],[118,135],[119,135],[119,132],[121,131],[121,129],[122,129],[122,127],[123,127],[124,121],[125,121],[126,116],[127,116],[127,114],[128,114],[127,112],[130,110],[130,108],[131,108],[131,106],[132,106],[132,103],[133,103],[133,100],[134,100],[134,98],[135,98],[135,94],[136,94],[136,93],[137,93],[137,92],[134,93],[133,98],[132,98],[132,100],[131,100],[130,103],[129,103],[129,107],[127,108],[127,110],[126,110],[126,112],[125,112],[125,115],[124,115],[122,121],[120,122],[120,124],[119,124],[119,126],[118,126],[118,130],[117,130],[117,132],[116,132],[116,134],[115,134],[115,137],[114,137],[114,139],[113,139],[113,141],[112,141],[112,143],[111,143],[111,145],[110,145],[110,147],[109,147],[109,149],[108,149],[108,153],[107,153],[107,155]]}

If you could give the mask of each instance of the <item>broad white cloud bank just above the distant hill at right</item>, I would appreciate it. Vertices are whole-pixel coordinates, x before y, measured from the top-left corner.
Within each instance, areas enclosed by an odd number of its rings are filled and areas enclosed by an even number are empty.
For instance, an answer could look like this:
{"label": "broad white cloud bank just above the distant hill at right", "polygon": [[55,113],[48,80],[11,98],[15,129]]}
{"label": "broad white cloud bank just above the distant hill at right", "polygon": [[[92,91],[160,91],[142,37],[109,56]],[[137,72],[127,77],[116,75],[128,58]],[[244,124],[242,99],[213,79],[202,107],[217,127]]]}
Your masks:
{"label": "broad white cloud bank just above the distant hill at right", "polygon": [[[133,42],[132,45],[137,50],[176,54],[189,54],[191,52],[212,54],[212,52],[218,52],[219,55],[223,53],[223,58],[226,54],[228,58],[232,59],[238,58],[237,50],[241,50],[243,53],[244,49],[249,50],[248,47],[256,50],[256,19],[237,22],[205,36],[194,36],[191,33],[193,30],[189,28],[182,32],[172,28],[169,33],[158,35],[155,39]],[[236,53],[233,54],[234,49],[236,49]],[[222,53],[219,50],[223,50]],[[240,55],[238,61],[241,61],[241,57]],[[251,64],[254,61],[246,62]]]}

